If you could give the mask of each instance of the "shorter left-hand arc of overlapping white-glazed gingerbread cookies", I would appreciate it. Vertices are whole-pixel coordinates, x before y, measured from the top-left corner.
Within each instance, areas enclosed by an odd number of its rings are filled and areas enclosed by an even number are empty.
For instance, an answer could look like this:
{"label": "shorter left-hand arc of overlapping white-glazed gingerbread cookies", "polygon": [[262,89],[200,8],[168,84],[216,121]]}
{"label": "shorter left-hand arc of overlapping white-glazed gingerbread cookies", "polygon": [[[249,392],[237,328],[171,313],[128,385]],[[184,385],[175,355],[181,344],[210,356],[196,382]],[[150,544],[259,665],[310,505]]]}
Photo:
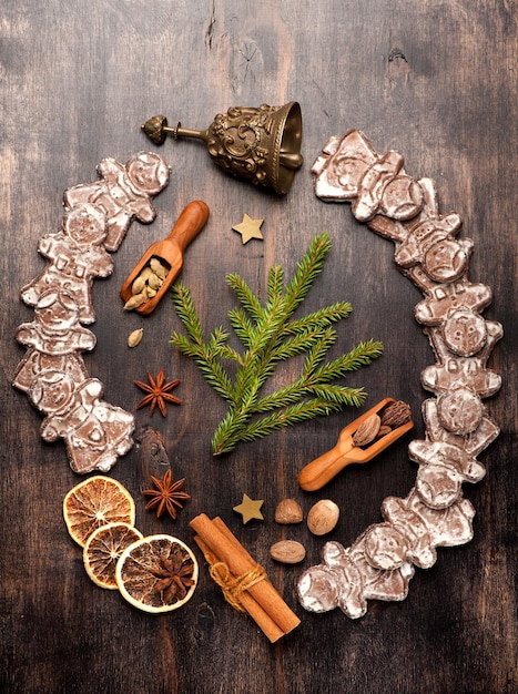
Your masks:
{"label": "shorter left-hand arc of overlapping white-glazed gingerbread cookies", "polygon": [[71,468],[85,474],[106,472],[133,446],[134,418],[101,399],[101,381],[90,378],[82,357],[95,336],[81,324],[95,320],[92,280],[113,268],[106,247],[119,247],[131,221],[151,222],[150,198],[169,182],[169,166],[156,154],[139,152],[125,166],[103,160],[102,181],[64,193],[62,229],[45,234],[38,251],[45,268],[21,289],[34,306],[34,320],[17,330],[28,350],[12,385],[27,392],[45,418],[45,441],[63,439]]}

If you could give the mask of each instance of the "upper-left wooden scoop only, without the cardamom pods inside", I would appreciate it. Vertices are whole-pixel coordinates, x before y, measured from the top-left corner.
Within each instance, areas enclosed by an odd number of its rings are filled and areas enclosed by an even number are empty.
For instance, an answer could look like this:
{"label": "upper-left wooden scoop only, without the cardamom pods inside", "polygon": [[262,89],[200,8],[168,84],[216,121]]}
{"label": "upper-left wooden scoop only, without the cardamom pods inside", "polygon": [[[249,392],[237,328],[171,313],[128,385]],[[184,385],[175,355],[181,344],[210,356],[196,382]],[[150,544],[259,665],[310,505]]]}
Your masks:
{"label": "upper-left wooden scoop only, without the cardamom pods inside", "polygon": [[183,210],[182,214],[173,226],[170,235],[162,241],[156,241],[148,248],[139,263],[135,265],[128,279],[121,287],[121,298],[126,304],[133,296],[132,286],[141,272],[149,265],[151,258],[156,258],[162,265],[169,268],[167,275],[158,289],[155,296],[148,297],[144,303],[136,306],[134,310],[140,314],[151,314],[165,292],[170,288],[174,279],[183,267],[183,252],[189,244],[200,234],[209,220],[209,207],[201,200],[195,200]]}

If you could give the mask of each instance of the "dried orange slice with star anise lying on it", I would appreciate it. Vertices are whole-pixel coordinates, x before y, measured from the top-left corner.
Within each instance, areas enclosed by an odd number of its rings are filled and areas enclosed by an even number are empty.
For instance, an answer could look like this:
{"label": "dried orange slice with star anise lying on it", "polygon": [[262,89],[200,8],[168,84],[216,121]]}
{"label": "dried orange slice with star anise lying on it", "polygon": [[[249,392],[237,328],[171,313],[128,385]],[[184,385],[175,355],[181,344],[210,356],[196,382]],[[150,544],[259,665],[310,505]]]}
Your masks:
{"label": "dried orange slice with star anise lying on it", "polygon": [[192,550],[171,535],[138,540],[116,562],[115,579],[122,596],[144,612],[170,612],[185,604],[197,583]]}

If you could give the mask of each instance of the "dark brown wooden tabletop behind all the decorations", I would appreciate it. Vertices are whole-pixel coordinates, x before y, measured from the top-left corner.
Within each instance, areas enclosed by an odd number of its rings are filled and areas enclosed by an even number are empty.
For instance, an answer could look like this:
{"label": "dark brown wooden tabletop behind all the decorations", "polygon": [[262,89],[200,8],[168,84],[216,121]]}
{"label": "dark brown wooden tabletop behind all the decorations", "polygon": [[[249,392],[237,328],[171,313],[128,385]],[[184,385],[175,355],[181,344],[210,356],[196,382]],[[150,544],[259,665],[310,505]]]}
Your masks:
{"label": "dark brown wooden tabletop behind all the decorations", "polygon": [[[0,510],[0,688],[11,694],[122,692],[186,693],[511,693],[517,671],[516,340],[517,32],[511,0],[4,0],[0,10],[0,224],[3,287]],[[202,563],[200,585],[180,611],[153,616],[85,575],[81,552],[61,513],[79,478],[61,443],[39,435],[41,416],[11,388],[24,351],[17,326],[32,319],[19,299],[43,267],[37,243],[58,231],[63,191],[97,178],[105,156],[125,162],[154,145],[140,124],[155,113],[206,127],[230,105],[298,100],[304,119],[304,169],[290,195],[277,198],[228,178],[203,144],[160,150],[172,166],[155,198],[150,226],[133,224],[114,255],[115,271],[94,284],[98,346],[85,355],[105,399],[132,410],[133,379],[164,367],[182,379],[183,405],[152,423],[167,443],[173,470],[186,477],[192,501],[176,522],[143,509],[144,480],[133,450],[112,469],[136,499],[145,534],[170,532],[192,544],[189,521],[220,514],[261,561],[301,626],[271,645],[255,624],[224,602]],[[307,548],[317,563],[322,540],[305,525],[275,524],[276,503],[295,497],[305,511],[329,497],[342,509],[332,538],[345,545],[380,520],[388,494],[405,496],[416,468],[407,441],[366,467],[349,468],[323,492],[305,494],[297,472],[331,448],[358,412],[345,411],[241,445],[213,459],[211,435],[223,416],[196,366],[174,353],[180,328],[165,299],[152,317],[124,315],[119,287],[148,245],[164,236],[184,205],[206,201],[211,220],[187,251],[182,278],[210,329],[234,305],[225,274],[240,273],[264,293],[267,269],[290,277],[315,233],[333,241],[307,309],[349,300],[336,350],[374,337],[385,354],[349,377],[372,406],[385,396],[410,402],[415,435],[426,392],[421,368],[431,350],[413,318],[420,295],[398,274],[389,242],[352,217],[348,205],[313,194],[311,164],[328,136],[351,127],[378,152],[396,149],[410,175],[437,182],[443,211],[464,218],[475,242],[470,277],[494,289],[485,317],[505,338],[491,365],[504,387],[487,402],[500,437],[480,459],[487,477],[465,486],[474,503],[475,538],[439,551],[419,571],[402,603],[372,603],[352,621],[339,611],[302,610],[294,588],[301,568],[280,568],[268,548],[283,537]],[[242,245],[231,231],[243,213],[264,217],[264,241]],[[145,326],[142,345],[126,337]],[[138,425],[148,423],[140,410]],[[242,493],[264,499],[265,520],[243,527],[232,507]]]}

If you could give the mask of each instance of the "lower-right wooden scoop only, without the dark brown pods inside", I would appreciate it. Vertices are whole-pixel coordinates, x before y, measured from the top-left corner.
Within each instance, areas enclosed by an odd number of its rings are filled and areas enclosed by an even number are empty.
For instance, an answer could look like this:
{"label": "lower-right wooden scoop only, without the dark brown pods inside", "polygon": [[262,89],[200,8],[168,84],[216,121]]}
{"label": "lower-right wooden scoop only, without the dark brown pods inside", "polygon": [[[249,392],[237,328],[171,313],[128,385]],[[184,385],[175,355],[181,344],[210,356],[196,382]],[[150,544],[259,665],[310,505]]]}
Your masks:
{"label": "lower-right wooden scoop only, without the dark brown pods inside", "polygon": [[395,402],[393,398],[385,398],[360,417],[352,421],[345,429],[342,429],[338,442],[329,451],[316,458],[305,468],[301,470],[298,476],[298,484],[305,491],[316,491],[327,484],[341,470],[353,462],[368,462],[375,456],[380,453],[385,448],[394,443],[399,437],[409,431],[414,427],[412,419],[405,425],[393,429],[385,436],[375,440],[368,448],[359,448],[355,446],[353,436],[359,425],[370,415],[378,414],[387,405]]}

